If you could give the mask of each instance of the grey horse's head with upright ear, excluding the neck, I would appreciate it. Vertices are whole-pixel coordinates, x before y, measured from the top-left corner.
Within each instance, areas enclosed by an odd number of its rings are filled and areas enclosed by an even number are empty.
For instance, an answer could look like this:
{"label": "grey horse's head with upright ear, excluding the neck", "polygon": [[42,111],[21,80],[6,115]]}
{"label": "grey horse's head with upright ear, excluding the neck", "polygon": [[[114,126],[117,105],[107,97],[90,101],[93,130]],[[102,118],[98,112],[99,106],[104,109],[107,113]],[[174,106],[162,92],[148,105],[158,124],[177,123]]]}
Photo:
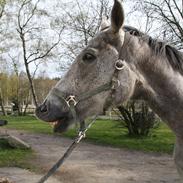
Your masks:
{"label": "grey horse's head with upright ear, excluding the neck", "polygon": [[[62,132],[74,121],[69,102],[73,102],[78,120],[101,114],[110,105],[128,100],[135,90],[136,75],[124,60],[119,60],[124,43],[124,11],[115,0],[111,22],[103,21],[99,33],[81,51],[66,75],[50,91],[43,104],[36,109],[38,118],[56,122],[55,131]],[[117,84],[113,86],[112,80]],[[109,83],[109,88],[97,89]],[[110,83],[112,83],[110,85]],[[91,94],[94,91],[95,94]],[[85,100],[78,101],[81,95]]]}

